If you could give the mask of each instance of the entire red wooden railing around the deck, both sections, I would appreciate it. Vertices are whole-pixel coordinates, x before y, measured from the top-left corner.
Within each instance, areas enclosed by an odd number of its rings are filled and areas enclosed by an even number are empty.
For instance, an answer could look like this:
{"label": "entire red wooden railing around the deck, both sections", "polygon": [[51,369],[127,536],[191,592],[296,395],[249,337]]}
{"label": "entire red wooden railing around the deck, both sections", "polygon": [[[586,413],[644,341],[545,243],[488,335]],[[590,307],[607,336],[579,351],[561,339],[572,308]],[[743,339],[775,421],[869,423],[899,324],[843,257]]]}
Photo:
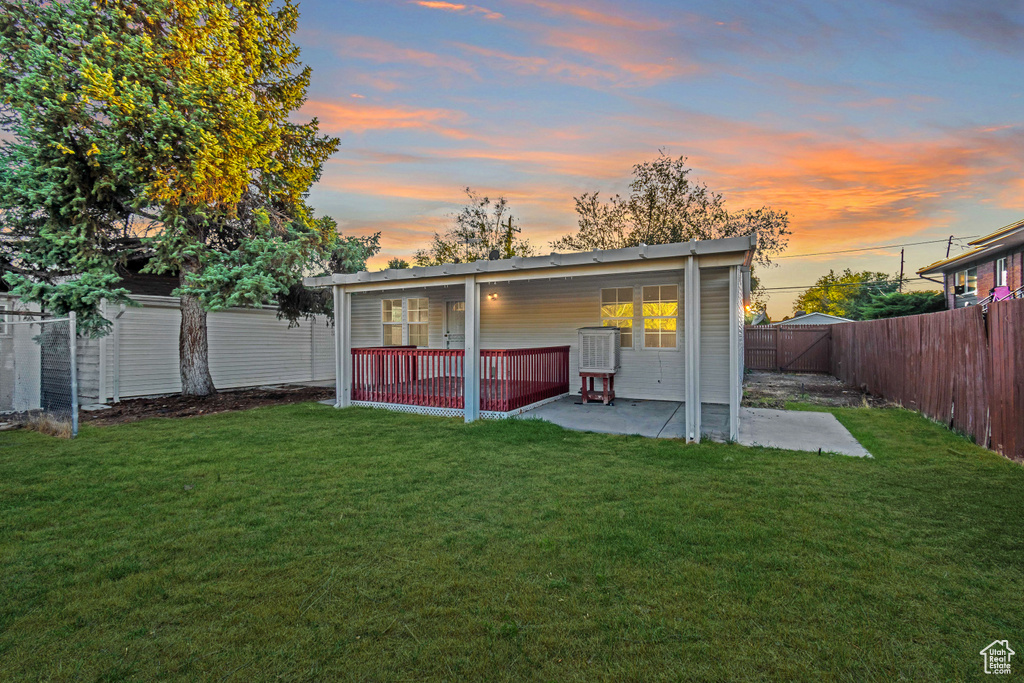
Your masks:
{"label": "entire red wooden railing around the deck, both sections", "polygon": [[[464,407],[462,349],[352,349],[352,399]],[[569,347],[480,351],[480,409],[508,412],[569,390]]]}

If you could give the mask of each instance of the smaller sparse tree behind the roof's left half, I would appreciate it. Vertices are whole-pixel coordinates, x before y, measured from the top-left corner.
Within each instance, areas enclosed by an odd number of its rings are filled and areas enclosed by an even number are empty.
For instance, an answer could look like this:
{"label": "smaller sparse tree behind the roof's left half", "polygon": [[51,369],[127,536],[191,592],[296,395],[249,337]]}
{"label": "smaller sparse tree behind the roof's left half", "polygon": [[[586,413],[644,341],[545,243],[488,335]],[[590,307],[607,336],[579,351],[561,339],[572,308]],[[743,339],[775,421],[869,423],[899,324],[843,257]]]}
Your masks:
{"label": "smaller sparse tree behind the roof's left half", "polygon": [[490,201],[466,187],[468,204],[453,216],[453,225],[443,234],[434,232],[426,249],[416,252],[417,265],[440,265],[479,261],[497,251],[499,258],[531,256],[534,247],[527,240],[517,237],[520,232],[508,201],[499,197]]}

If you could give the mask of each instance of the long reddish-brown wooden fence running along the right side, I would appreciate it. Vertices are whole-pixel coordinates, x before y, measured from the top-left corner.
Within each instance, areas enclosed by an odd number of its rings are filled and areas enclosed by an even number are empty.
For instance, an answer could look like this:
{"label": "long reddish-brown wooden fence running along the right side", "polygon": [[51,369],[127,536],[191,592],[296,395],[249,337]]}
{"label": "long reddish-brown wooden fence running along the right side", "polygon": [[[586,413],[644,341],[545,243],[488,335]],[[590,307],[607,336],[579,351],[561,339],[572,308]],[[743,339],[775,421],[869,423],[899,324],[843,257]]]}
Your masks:
{"label": "long reddish-brown wooden fence running along the right side", "polygon": [[833,326],[844,382],[1024,459],[1024,300]]}

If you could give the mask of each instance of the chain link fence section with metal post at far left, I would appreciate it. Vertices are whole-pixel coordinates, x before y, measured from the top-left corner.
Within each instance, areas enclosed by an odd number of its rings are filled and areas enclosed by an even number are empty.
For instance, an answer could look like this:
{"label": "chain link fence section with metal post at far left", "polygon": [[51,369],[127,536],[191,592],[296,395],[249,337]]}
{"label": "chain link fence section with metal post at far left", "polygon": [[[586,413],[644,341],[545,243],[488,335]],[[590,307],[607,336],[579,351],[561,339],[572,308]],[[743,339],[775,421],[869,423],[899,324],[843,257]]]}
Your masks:
{"label": "chain link fence section with metal post at far left", "polygon": [[0,423],[78,434],[75,315],[0,312]]}

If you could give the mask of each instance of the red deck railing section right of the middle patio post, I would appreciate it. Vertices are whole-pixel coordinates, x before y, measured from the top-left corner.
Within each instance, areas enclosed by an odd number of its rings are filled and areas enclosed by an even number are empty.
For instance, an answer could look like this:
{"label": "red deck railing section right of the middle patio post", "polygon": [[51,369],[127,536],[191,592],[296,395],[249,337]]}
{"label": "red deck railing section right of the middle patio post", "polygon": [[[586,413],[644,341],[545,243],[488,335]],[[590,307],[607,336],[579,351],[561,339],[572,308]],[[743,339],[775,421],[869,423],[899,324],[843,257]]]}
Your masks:
{"label": "red deck railing section right of the middle patio post", "polygon": [[514,411],[568,390],[568,346],[480,351],[482,411]]}

